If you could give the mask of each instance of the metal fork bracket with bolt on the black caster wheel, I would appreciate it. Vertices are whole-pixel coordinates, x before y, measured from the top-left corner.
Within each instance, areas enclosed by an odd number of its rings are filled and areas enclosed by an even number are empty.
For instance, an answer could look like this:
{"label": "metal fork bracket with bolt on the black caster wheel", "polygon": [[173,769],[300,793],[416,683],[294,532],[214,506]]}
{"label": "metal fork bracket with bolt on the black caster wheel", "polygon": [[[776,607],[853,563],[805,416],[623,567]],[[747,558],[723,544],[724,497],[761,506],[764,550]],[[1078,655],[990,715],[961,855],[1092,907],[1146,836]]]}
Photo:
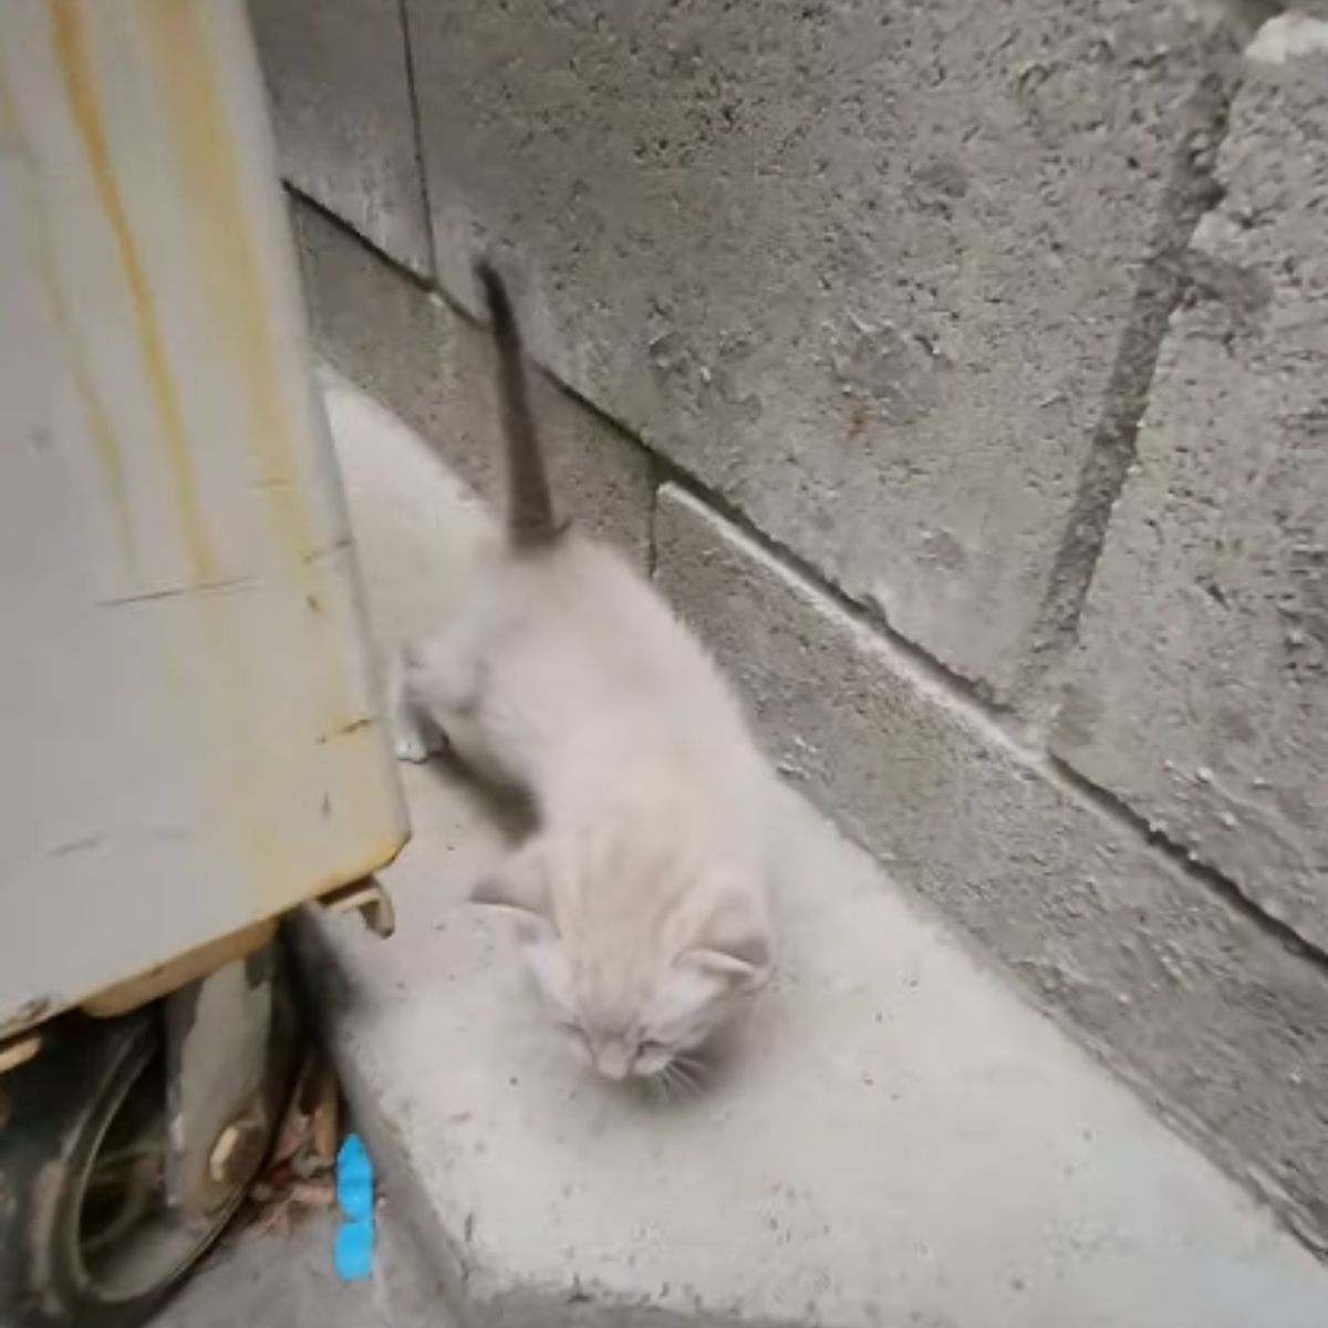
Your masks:
{"label": "metal fork bracket with bolt on the black caster wheel", "polygon": [[276,951],[267,946],[165,1000],[171,1207],[203,1216],[263,1161]]}

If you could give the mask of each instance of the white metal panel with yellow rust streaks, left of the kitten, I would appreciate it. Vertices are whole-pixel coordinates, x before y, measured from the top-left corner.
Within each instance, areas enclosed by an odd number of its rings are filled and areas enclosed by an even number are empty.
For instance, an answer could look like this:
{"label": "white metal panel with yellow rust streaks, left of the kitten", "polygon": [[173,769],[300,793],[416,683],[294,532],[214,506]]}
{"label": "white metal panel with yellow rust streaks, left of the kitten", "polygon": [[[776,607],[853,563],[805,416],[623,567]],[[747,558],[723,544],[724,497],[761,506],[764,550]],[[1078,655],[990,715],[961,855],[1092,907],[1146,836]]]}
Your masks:
{"label": "white metal panel with yellow rust streaks, left of the kitten", "polygon": [[0,8],[0,1032],[406,835],[244,7]]}

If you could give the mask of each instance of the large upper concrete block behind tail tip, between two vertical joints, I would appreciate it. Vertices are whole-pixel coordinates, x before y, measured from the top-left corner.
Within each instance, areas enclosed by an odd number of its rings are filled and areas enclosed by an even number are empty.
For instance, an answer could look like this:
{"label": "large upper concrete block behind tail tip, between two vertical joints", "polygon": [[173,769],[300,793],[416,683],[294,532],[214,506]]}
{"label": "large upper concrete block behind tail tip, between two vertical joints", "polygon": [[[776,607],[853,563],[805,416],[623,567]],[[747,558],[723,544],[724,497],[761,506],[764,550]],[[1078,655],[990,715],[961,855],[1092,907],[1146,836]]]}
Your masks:
{"label": "large upper concrete block behind tail tip, between two vertical joints", "polygon": [[507,256],[564,381],[1004,695],[1203,191],[1179,8],[418,0],[440,279]]}

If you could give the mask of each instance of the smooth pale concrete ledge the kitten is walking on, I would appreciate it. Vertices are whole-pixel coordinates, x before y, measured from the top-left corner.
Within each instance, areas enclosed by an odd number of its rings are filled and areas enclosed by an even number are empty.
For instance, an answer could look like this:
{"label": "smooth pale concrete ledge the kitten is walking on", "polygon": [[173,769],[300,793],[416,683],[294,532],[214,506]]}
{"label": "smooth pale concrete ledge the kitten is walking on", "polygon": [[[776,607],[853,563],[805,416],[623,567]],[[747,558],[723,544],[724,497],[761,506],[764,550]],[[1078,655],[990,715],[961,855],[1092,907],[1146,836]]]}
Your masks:
{"label": "smooth pale concrete ledge the kitten is walking on", "polygon": [[[402,440],[333,406],[372,603],[401,529]],[[482,538],[454,485],[417,499],[410,529],[459,503],[445,527]],[[434,546],[436,584],[465,575],[462,543]],[[388,1194],[466,1321],[1328,1316],[1328,1271],[793,794],[780,976],[708,1090],[657,1102],[586,1074],[505,920],[463,902],[503,851],[478,795],[404,773],[416,838],[384,878],[396,936],[311,915],[305,952]]]}

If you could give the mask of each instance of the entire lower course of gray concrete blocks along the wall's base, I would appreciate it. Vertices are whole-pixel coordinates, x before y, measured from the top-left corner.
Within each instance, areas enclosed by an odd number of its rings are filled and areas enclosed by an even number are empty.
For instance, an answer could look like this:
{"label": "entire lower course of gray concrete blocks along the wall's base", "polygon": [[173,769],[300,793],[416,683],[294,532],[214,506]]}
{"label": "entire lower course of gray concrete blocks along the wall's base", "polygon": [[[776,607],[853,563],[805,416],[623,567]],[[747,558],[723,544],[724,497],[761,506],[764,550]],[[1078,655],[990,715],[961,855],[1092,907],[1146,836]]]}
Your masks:
{"label": "entire lower course of gray concrete blocks along the wall's base", "polygon": [[[493,493],[482,335],[335,222],[308,207],[297,215],[320,347]],[[644,560],[645,457],[575,400],[543,390],[556,491]],[[935,671],[693,506],[665,493],[660,575],[742,681],[790,777],[1328,1246],[1321,971],[1053,778]],[[429,558],[424,534],[421,566]]]}

